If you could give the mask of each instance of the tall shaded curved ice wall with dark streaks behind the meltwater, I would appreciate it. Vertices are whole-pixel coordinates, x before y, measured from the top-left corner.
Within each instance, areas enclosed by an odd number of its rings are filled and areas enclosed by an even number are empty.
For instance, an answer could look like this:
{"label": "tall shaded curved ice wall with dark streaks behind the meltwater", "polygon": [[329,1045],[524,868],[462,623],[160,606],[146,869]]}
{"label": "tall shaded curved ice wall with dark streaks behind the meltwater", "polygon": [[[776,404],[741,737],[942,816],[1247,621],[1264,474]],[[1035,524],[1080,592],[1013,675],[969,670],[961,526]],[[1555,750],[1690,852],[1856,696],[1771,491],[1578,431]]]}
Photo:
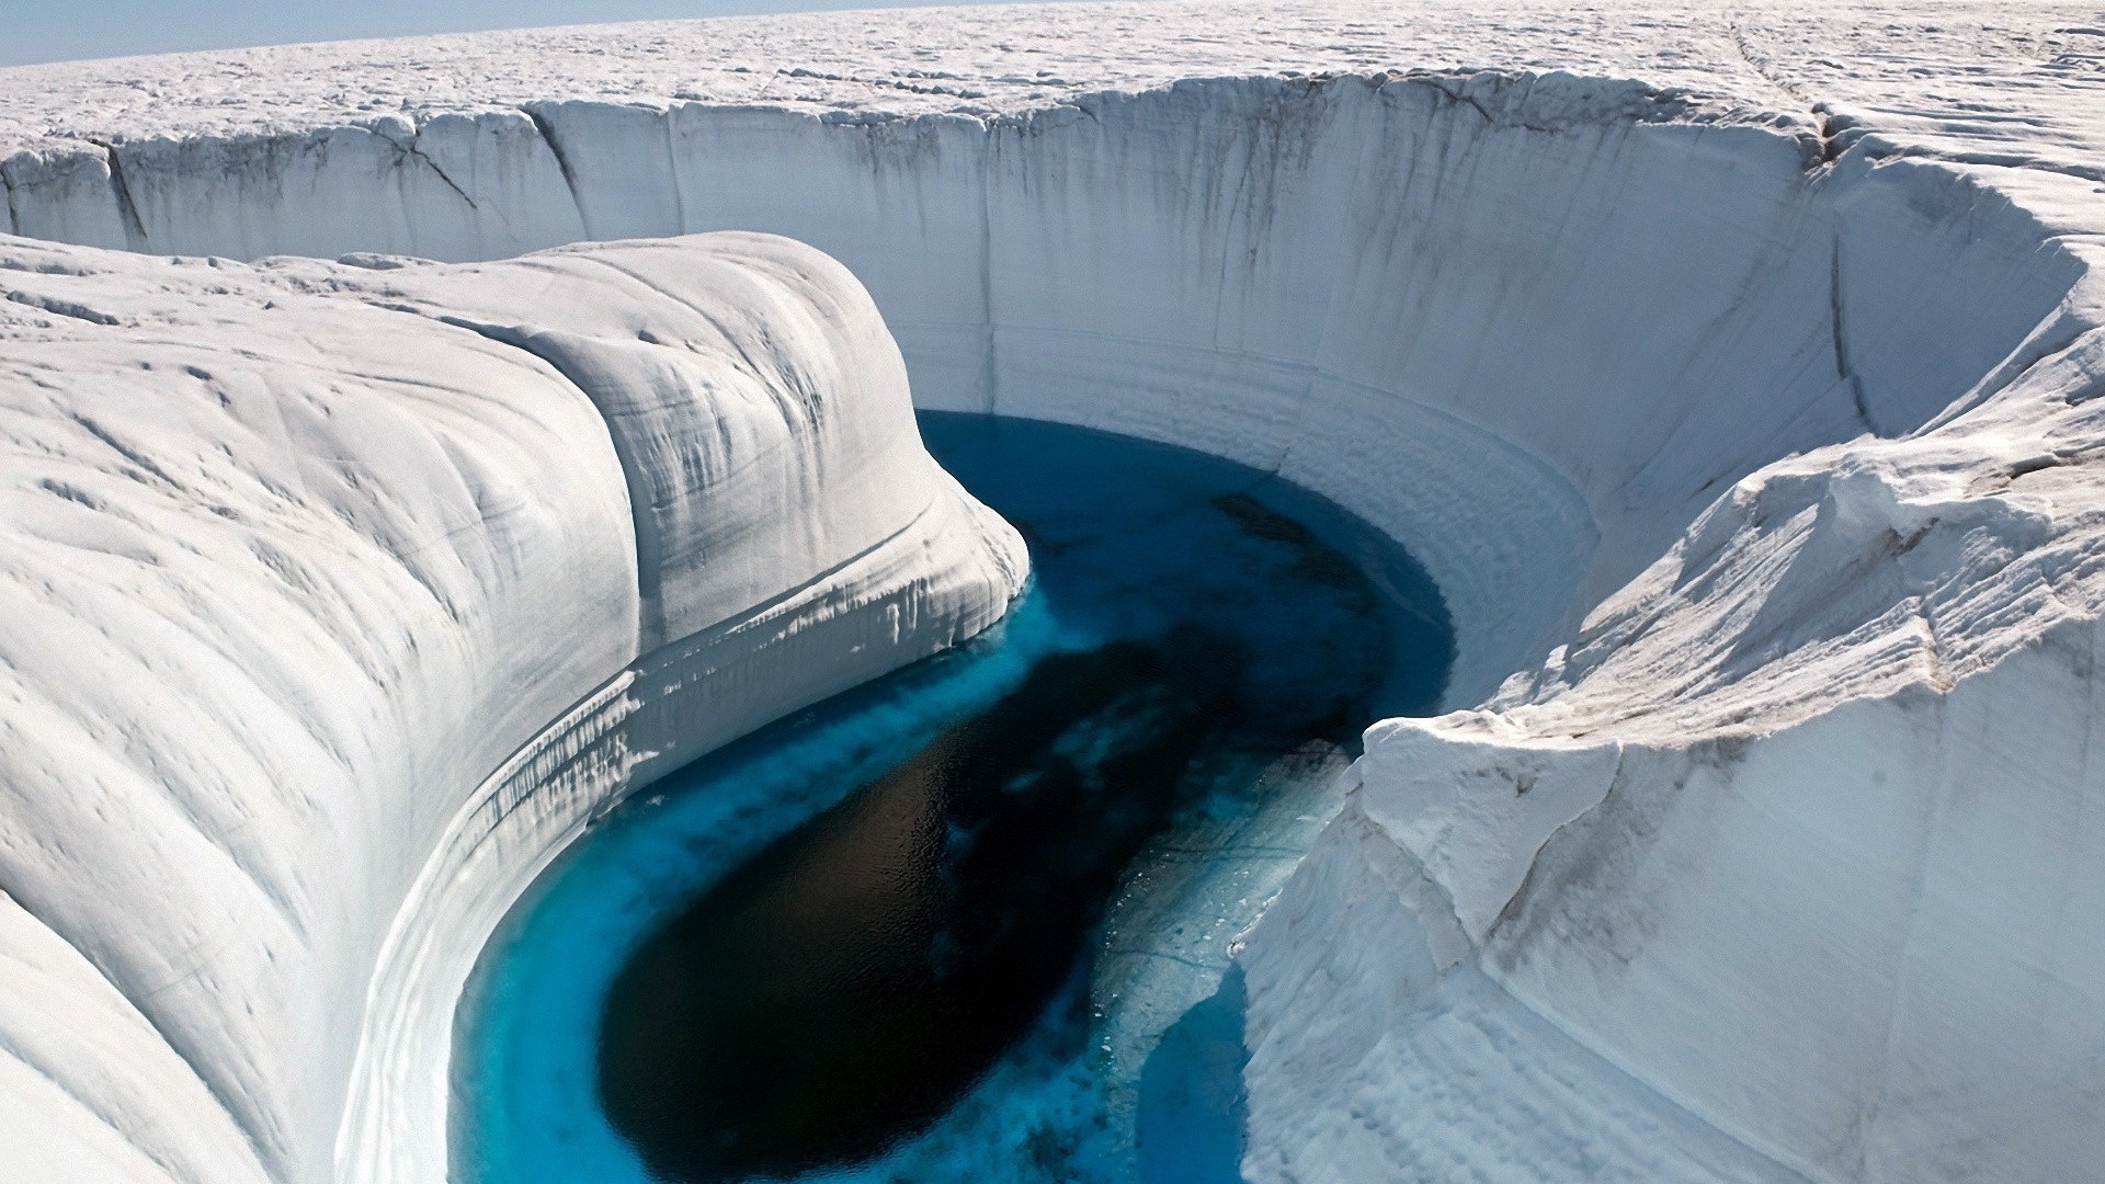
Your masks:
{"label": "tall shaded curved ice wall with dark streaks behind the meltwater", "polygon": [[1558,74],[1194,80],[996,120],[535,103],[122,143],[122,185],[82,158],[13,192],[23,234],[122,244],[84,228],[124,206],[149,249],[236,257],[813,242],[926,407],[1194,445],[1394,531],[1448,590],[1474,704],[1732,480],[1920,423],[2069,282],[2012,265],[2038,234],[1962,177],[1688,114]]}

